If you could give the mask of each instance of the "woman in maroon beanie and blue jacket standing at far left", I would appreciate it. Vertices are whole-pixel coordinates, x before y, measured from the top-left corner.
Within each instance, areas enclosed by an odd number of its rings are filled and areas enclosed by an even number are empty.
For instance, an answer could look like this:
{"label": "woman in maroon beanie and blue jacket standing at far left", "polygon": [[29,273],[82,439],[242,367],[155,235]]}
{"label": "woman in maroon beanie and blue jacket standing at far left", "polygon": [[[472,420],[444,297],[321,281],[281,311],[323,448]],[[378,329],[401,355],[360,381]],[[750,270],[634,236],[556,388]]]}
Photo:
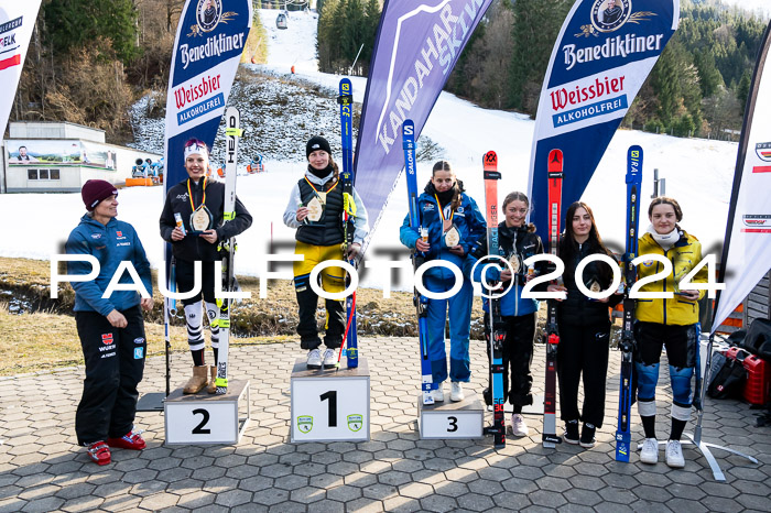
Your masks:
{"label": "woman in maroon beanie and blue jacket standing at far left", "polygon": [[[67,239],[68,254],[95,256],[99,261],[96,280],[72,282],[75,290],[75,321],[86,360],[83,397],[75,415],[78,445],[98,465],[111,460],[110,447],[141,450],[145,444],[133,432],[137,385],[142,380],[146,341],[142,308],[152,309],[151,297],[135,291],[116,291],[102,298],[121,262],[137,270],[142,285],[152,295],[150,263],[133,227],[116,219],[118,190],[109,182],[89,179],[82,190],[88,212]],[[69,274],[89,274],[85,260],[68,264]],[[120,283],[132,283],[123,273]]]}

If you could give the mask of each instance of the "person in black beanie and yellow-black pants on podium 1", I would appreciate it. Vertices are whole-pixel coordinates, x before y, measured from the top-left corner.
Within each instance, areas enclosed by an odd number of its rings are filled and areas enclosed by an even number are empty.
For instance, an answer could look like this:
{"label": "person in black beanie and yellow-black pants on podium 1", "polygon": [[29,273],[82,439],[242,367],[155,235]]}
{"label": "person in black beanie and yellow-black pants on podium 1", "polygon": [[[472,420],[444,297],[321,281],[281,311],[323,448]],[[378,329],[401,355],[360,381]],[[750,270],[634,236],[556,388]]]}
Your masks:
{"label": "person in black beanie and yellow-black pants on podium 1", "polygon": [[[311,271],[327,260],[351,260],[361,249],[361,242],[369,232],[367,209],[356,189],[354,200],[352,226],[354,243],[348,254],[343,254],[343,207],[344,193],[340,172],[332,160],[332,149],[326,139],[316,135],[305,145],[308,166],[305,175],[292,189],[289,205],[284,211],[284,225],[296,228],[294,252],[304,260],[294,262],[294,291],[297,294],[300,323],[300,347],[308,351],[307,368],[325,369],[337,367],[335,349],[343,345],[346,330],[344,299],[326,299],[327,317],[325,325],[324,356],[319,351],[322,339],[316,326],[316,306],[318,295],[311,288]],[[345,272],[341,268],[326,268],[321,272],[322,286],[329,293],[345,290]]]}

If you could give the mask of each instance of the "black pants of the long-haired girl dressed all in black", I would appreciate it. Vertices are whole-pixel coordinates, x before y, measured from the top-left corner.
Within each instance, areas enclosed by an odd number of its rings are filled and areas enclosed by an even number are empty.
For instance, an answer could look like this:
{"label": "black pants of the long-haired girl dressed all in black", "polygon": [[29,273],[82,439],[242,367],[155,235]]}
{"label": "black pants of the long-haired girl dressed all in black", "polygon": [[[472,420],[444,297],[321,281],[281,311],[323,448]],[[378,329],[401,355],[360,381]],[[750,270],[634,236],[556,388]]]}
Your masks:
{"label": "black pants of the long-haired girl dressed all in black", "polygon": [[[560,418],[602,426],[608,375],[610,321],[588,326],[560,324],[557,376]],[[584,404],[578,413],[578,384],[584,381]]]}

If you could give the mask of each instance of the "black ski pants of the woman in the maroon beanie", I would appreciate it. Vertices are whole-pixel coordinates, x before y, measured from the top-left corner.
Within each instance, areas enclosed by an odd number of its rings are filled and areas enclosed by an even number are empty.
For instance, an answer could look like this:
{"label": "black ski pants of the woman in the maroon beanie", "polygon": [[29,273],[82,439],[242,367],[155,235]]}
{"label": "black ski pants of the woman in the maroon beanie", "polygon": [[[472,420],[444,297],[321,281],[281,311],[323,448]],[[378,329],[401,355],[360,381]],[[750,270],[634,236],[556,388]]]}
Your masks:
{"label": "black ski pants of the woman in the maroon beanie", "polygon": [[133,428],[148,343],[138,306],[121,312],[126,328],[116,328],[96,312],[76,312],[86,380],[75,415],[79,445],[120,438]]}

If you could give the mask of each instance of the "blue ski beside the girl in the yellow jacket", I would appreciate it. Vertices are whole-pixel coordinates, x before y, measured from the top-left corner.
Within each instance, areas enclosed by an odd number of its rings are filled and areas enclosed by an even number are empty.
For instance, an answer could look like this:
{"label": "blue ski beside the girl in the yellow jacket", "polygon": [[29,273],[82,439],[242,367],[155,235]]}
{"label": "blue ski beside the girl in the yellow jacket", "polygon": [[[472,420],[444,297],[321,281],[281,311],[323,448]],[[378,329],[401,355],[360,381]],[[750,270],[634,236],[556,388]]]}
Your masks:
{"label": "blue ski beside the girl in the yellow jacket", "polygon": [[629,290],[637,280],[632,261],[638,253],[638,225],[640,222],[640,185],[642,184],[642,148],[630,146],[627,153],[627,245],[623,254],[623,330],[621,332],[621,384],[618,399],[618,427],[616,429],[616,460],[629,462],[632,441],[630,416],[632,408],[632,349],[634,348],[634,299]]}

